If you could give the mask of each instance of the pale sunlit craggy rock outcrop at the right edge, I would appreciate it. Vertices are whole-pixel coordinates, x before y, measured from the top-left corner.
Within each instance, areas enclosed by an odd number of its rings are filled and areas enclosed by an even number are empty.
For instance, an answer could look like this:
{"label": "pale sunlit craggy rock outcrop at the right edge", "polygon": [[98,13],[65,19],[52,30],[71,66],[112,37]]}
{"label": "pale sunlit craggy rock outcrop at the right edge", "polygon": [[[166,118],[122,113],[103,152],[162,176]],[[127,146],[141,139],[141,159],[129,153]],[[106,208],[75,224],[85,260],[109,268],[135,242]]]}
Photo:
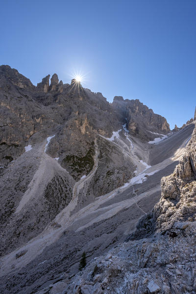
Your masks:
{"label": "pale sunlit craggy rock outcrop at the right edge", "polygon": [[162,197],[154,207],[159,231],[169,230],[177,221],[196,218],[196,129],[172,175],[162,178]]}

